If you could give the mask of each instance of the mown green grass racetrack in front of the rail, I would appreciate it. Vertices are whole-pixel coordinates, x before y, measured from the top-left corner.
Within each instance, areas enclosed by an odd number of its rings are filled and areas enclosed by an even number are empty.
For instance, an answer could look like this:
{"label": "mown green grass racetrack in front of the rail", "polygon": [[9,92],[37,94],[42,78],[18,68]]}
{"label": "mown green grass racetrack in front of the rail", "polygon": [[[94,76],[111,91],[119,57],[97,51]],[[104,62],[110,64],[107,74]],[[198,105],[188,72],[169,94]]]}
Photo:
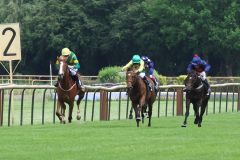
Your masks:
{"label": "mown green grass racetrack in front of the rail", "polygon": [[0,127],[0,160],[239,160],[240,114]]}

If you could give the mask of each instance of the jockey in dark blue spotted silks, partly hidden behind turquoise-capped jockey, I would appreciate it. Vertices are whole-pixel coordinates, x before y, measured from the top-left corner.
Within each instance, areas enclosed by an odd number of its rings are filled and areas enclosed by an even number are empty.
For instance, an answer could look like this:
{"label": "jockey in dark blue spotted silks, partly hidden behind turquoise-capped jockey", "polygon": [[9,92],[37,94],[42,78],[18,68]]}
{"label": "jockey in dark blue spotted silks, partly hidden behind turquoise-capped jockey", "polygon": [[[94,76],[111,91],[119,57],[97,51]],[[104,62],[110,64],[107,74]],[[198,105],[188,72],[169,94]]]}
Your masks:
{"label": "jockey in dark blue spotted silks, partly hidden behind turquoise-capped jockey", "polygon": [[148,58],[147,56],[142,56],[141,59],[144,61],[144,66],[145,66],[147,76],[149,76],[152,79],[152,81],[155,84],[155,88],[157,89],[158,82],[157,82],[156,77],[153,75],[153,72],[154,72],[153,61],[150,58]]}

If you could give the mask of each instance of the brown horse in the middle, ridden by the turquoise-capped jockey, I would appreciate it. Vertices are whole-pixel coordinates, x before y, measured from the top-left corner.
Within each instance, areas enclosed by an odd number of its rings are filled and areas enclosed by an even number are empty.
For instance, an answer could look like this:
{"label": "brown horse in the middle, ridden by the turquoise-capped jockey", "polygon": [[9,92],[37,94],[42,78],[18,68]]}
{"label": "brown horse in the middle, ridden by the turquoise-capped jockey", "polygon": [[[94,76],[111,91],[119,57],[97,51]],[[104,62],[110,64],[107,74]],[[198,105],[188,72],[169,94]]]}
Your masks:
{"label": "brown horse in the middle, ridden by the turquoise-capped jockey", "polygon": [[[128,94],[132,101],[132,107],[135,111],[137,127],[139,127],[141,117],[142,123],[144,123],[143,111],[146,109],[146,107],[148,107],[148,126],[150,127],[152,118],[152,105],[156,99],[156,92],[148,91],[143,79],[133,70],[128,70],[126,72],[126,80]],[[151,86],[154,86],[154,82],[150,78],[148,80],[151,83]]]}

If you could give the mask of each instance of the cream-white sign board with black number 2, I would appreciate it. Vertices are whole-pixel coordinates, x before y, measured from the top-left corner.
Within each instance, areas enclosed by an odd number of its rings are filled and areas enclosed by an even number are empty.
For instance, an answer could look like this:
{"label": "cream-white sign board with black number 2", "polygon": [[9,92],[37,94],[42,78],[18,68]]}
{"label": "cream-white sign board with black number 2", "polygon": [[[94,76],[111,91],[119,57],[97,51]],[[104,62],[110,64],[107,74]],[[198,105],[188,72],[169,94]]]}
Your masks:
{"label": "cream-white sign board with black number 2", "polygon": [[19,23],[0,24],[0,61],[21,60]]}

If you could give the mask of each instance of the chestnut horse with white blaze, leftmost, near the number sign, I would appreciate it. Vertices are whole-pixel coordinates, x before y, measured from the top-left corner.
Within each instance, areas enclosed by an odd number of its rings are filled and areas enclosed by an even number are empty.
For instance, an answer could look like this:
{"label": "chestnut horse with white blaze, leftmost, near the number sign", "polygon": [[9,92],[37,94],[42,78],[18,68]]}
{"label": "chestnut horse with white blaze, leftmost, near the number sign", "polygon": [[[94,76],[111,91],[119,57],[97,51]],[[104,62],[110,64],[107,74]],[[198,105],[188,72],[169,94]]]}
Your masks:
{"label": "chestnut horse with white blaze, leftmost, near the number sign", "polygon": [[56,89],[58,95],[58,107],[56,110],[56,115],[58,116],[61,123],[66,123],[65,120],[65,110],[67,103],[69,105],[69,114],[68,114],[68,122],[72,121],[72,111],[74,106],[75,96],[78,95],[77,99],[77,119],[80,120],[80,102],[84,97],[85,92],[79,90],[77,88],[76,82],[72,79],[70,75],[70,71],[68,65],[66,63],[67,57],[60,56],[58,58],[59,61],[59,82],[58,87]]}

